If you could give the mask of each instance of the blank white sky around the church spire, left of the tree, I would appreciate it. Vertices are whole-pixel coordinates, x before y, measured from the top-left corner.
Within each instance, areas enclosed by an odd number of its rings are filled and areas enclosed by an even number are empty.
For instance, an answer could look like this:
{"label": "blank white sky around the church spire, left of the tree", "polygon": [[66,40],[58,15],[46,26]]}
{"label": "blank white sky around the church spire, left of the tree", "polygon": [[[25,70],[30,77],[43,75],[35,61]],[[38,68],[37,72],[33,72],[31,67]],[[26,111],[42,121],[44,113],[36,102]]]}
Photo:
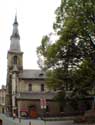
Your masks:
{"label": "blank white sky around the church spire, left of the tree", "polygon": [[37,69],[36,48],[52,31],[60,0],[0,0],[0,87],[6,84],[7,52],[17,10],[24,69]]}

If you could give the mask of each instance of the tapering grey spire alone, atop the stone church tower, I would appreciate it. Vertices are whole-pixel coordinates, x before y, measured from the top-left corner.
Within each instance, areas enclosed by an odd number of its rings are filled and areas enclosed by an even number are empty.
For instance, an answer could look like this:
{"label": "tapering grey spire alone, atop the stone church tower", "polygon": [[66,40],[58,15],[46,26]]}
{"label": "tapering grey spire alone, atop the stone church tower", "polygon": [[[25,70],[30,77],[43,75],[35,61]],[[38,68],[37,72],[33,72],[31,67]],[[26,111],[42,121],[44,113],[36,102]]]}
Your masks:
{"label": "tapering grey spire alone, atop the stone church tower", "polygon": [[18,22],[17,22],[17,15],[15,15],[14,23],[13,23],[13,32],[10,37],[11,44],[10,44],[10,52],[20,52],[20,36],[18,32]]}

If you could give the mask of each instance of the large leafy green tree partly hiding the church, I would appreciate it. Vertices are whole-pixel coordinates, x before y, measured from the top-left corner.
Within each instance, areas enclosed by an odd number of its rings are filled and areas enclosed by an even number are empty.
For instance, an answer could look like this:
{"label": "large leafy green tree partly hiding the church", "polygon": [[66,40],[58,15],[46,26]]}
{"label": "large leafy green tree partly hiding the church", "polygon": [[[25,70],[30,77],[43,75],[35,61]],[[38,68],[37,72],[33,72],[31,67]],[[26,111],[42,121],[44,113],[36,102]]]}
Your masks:
{"label": "large leafy green tree partly hiding the church", "polygon": [[53,28],[58,40],[51,43],[50,36],[44,36],[37,49],[43,69],[48,71],[47,83],[63,93],[74,88],[71,96],[87,95],[86,86],[95,81],[95,1],[62,0],[55,14]]}

